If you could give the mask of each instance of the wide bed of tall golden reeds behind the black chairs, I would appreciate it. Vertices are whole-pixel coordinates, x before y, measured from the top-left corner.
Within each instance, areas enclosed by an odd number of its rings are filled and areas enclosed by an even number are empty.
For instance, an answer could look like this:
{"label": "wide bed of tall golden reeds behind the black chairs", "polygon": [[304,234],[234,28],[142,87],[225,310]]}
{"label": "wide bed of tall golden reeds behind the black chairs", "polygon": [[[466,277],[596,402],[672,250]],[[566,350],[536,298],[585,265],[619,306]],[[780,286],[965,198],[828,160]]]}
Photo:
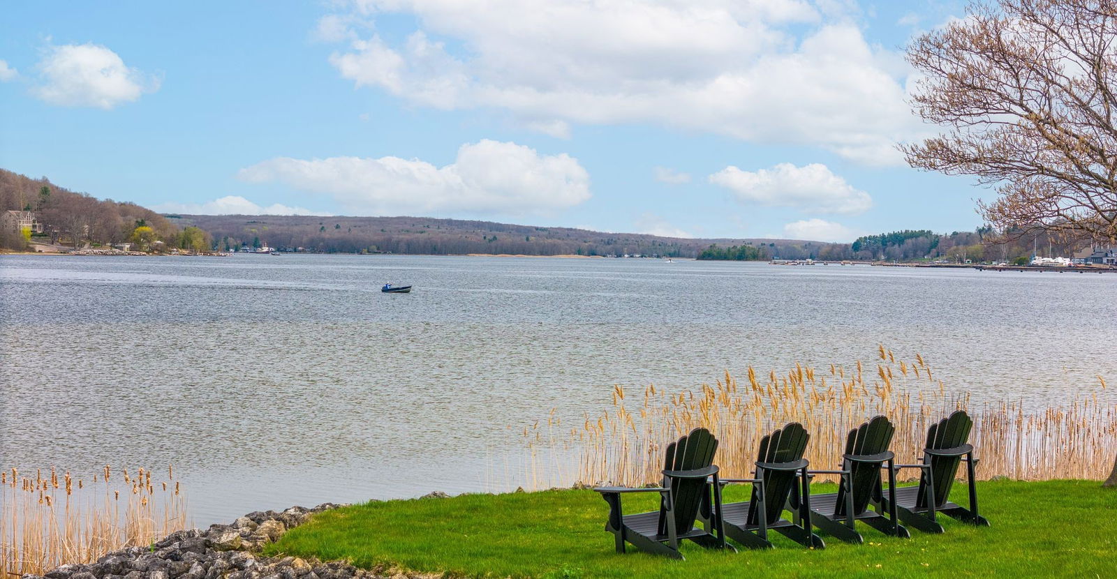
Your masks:
{"label": "wide bed of tall golden reeds behind the black chairs", "polygon": [[895,423],[892,450],[899,462],[911,462],[922,456],[932,423],[965,409],[975,423],[971,442],[981,459],[978,479],[1101,480],[1117,450],[1117,406],[1098,401],[1106,387],[1101,377],[1091,387],[1092,394],[1079,393],[1062,405],[972,405],[968,395],[948,394],[922,356],[898,360],[881,346],[875,367],[868,368],[860,361],[821,370],[796,364],[785,374],[761,376],[750,367],[744,380],[726,373],[714,385],[680,393],[652,385],[634,399],[618,386],[612,406],[586,415],[581,425],[563,428],[552,413],[523,434],[531,448],[533,486],[639,486],[660,479],[662,445],[699,426],[719,441],[716,460],[723,476],[746,477],[760,440],[789,422],[802,423],[811,434],[811,464],[833,469],[846,434],[873,415]]}

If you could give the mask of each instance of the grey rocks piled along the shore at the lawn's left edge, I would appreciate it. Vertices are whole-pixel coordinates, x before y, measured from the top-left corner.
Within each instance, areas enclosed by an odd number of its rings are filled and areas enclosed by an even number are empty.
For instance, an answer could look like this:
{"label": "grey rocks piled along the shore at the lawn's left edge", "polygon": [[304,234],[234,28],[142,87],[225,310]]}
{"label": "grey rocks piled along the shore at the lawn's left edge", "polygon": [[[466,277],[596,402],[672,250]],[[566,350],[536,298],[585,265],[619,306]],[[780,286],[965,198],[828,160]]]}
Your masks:
{"label": "grey rocks piled along the shore at the lawn's left edge", "polygon": [[[431,493],[430,498],[446,496]],[[256,511],[232,524],[207,530],[189,529],[169,534],[151,547],[112,551],[95,563],[70,563],[42,576],[22,579],[436,579],[441,573],[413,573],[395,569],[359,569],[345,561],[296,557],[264,557],[264,546],[315,513],[343,506],[323,503],[313,509],[292,506],[283,512]]]}

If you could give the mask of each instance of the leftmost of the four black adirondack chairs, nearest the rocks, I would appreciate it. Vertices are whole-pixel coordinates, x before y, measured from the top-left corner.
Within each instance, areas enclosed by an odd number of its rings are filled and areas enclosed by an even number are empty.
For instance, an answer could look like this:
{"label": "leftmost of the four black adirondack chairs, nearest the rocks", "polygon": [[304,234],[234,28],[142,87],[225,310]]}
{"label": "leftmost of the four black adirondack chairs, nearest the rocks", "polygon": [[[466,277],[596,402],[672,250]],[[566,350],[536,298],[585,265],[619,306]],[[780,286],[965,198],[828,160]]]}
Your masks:
{"label": "leftmost of the four black adirondack chairs, nearest the rocks", "polygon": [[[642,551],[682,559],[679,552],[682,539],[706,548],[733,549],[725,542],[717,515],[722,509],[722,485],[713,464],[716,451],[717,438],[706,428],[695,428],[667,446],[661,486],[594,489],[609,503],[605,530],[613,533],[617,552],[623,553],[628,542]],[[621,495],[633,492],[658,492],[659,510],[624,514]],[[699,517],[706,523],[701,529],[695,527]]]}

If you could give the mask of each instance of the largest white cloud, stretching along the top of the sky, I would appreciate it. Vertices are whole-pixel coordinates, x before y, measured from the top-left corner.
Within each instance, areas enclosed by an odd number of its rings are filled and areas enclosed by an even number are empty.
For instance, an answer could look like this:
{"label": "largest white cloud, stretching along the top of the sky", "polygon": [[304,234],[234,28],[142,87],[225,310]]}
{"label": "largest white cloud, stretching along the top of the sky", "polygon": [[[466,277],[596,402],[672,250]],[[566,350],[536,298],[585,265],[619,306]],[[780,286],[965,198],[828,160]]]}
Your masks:
{"label": "largest white cloud, stretching along the top of the sky", "polygon": [[849,19],[803,1],[351,6],[346,17],[405,13],[420,29],[400,42],[365,32],[330,61],[359,87],[421,106],[498,108],[535,123],[657,123],[817,145],[867,164],[901,163],[894,143],[919,131],[904,102],[907,69],[881,66],[897,59]]}

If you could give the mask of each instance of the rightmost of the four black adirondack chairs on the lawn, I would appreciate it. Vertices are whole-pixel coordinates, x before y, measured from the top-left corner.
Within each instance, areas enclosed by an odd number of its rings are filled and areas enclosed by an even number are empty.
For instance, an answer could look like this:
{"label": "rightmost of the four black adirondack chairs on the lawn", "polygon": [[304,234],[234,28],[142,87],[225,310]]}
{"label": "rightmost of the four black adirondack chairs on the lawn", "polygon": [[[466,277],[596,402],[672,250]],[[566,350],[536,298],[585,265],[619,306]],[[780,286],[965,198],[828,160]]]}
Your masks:
{"label": "rightmost of the four black adirondack chairs on the lawn", "polygon": [[[974,422],[963,411],[956,411],[927,430],[927,446],[923,450],[922,464],[897,464],[895,469],[922,469],[918,486],[904,486],[896,491],[896,509],[900,520],[928,533],[943,532],[937,513],[960,521],[989,527],[989,520],[977,514],[977,489],[974,486],[974,470],[978,460],[974,447],[967,441]],[[966,461],[970,475],[970,508],[947,500],[958,473],[958,465]],[[887,500],[879,503],[888,508]]]}

